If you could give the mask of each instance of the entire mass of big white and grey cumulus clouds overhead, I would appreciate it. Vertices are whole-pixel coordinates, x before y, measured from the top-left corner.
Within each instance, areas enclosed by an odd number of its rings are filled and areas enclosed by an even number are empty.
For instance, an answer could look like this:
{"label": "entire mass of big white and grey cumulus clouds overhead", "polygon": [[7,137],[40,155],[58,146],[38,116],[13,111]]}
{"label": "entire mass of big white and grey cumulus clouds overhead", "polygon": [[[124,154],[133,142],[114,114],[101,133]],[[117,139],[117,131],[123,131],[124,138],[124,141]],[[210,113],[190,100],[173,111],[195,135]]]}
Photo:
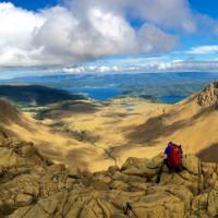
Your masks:
{"label": "entire mass of big white and grey cumulus clouds overhead", "polygon": [[[134,28],[131,20],[143,25]],[[66,0],[37,12],[0,3],[0,66],[60,66],[112,55],[173,50],[195,33],[187,0]]]}

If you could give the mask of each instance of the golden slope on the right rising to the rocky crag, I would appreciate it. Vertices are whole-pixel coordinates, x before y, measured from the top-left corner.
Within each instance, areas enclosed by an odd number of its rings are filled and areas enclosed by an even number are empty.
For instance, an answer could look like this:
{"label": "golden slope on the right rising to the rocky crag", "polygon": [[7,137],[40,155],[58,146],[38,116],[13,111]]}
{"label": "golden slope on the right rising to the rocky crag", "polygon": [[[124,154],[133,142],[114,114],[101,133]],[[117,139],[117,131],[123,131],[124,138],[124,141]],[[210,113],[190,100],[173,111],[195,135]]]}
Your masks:
{"label": "golden slope on the right rising to the rocky crag", "polygon": [[[125,136],[129,143],[141,143],[157,150],[162,150],[169,141],[173,141],[183,145],[185,153],[202,154],[206,149],[206,156],[211,157],[218,143],[217,108],[218,83],[215,82],[183,101],[166,106],[160,113],[148,117],[140,125],[130,128]],[[218,162],[218,157],[208,160]]]}

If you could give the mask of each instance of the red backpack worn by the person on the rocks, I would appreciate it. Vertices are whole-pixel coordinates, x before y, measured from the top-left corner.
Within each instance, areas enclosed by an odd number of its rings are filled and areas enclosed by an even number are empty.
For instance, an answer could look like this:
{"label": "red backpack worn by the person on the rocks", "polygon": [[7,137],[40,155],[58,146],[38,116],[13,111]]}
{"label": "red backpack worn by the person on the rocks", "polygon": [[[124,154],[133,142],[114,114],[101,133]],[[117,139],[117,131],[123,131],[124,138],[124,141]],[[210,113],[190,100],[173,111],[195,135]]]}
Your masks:
{"label": "red backpack worn by the person on the rocks", "polygon": [[179,145],[171,144],[168,165],[171,168],[180,168],[182,166],[182,148]]}

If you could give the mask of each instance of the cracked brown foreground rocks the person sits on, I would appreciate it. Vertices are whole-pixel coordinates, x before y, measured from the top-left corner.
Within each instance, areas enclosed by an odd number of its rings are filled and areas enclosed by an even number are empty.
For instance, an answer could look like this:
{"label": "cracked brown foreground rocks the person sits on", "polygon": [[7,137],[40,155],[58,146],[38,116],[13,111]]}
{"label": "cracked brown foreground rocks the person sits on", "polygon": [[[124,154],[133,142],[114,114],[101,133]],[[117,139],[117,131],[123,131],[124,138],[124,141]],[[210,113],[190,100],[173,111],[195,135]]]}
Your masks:
{"label": "cracked brown foreground rocks the person sits on", "polygon": [[218,216],[218,166],[185,156],[180,173],[161,155],[89,173],[53,165],[32,143],[0,142],[0,217],[197,218]]}

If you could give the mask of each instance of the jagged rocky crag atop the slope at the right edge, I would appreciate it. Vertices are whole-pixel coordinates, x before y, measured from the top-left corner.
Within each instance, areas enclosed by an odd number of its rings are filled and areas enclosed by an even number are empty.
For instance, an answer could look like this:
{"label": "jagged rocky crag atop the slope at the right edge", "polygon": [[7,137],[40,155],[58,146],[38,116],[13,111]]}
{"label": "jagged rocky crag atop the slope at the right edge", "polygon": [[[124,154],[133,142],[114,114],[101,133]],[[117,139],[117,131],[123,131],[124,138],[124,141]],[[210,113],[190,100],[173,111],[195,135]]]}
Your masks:
{"label": "jagged rocky crag atop the slope at the right edge", "polygon": [[197,97],[199,106],[218,106],[218,82],[210,83]]}

